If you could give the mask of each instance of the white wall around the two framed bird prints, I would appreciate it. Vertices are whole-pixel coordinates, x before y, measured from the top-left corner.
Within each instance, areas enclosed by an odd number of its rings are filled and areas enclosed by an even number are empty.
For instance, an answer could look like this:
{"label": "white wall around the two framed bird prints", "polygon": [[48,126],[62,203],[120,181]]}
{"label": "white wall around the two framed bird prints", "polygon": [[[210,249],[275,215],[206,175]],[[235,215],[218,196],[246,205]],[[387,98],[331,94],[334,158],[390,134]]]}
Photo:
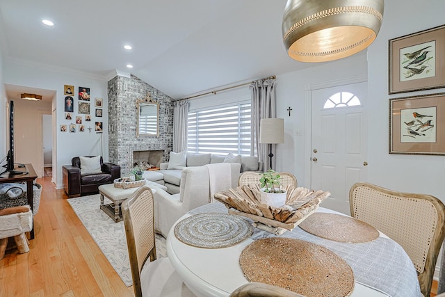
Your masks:
{"label": "white wall around the two framed bird prints", "polygon": [[[389,98],[444,92],[445,89],[388,95],[388,40],[444,24],[445,1],[428,0],[424,5],[385,1],[385,19],[377,40],[369,49],[369,119],[388,115]],[[412,22],[421,19],[421,22]],[[389,22],[391,20],[391,22]],[[445,67],[442,65],[442,67]],[[413,193],[427,193],[445,202],[445,156],[388,154],[389,117],[369,125],[369,181],[380,186]]]}

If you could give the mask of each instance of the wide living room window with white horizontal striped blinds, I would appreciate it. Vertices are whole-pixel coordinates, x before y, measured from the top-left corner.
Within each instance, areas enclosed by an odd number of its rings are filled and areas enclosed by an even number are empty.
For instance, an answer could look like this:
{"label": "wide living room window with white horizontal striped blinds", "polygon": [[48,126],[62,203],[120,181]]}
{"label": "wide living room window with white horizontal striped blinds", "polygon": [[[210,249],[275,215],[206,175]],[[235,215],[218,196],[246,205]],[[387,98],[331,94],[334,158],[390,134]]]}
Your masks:
{"label": "wide living room window with white horizontal striped blinds", "polygon": [[250,156],[250,100],[188,112],[187,152]]}

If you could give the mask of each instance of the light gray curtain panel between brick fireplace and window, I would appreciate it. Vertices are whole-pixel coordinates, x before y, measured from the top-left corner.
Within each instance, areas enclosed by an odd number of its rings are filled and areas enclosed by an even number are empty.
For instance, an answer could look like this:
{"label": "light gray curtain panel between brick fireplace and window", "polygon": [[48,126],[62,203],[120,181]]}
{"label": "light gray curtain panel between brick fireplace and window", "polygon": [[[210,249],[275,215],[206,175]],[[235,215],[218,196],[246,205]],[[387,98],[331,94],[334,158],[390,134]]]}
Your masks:
{"label": "light gray curtain panel between brick fireplace and window", "polygon": [[173,152],[187,150],[188,100],[178,100],[173,111]]}

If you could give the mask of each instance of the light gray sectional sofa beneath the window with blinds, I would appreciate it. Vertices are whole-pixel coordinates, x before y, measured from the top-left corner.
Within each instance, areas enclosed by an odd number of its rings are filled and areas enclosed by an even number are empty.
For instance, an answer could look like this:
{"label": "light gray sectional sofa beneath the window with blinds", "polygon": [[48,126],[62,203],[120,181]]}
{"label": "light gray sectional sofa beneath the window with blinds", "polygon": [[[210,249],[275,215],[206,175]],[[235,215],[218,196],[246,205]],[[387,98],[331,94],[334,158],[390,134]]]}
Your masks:
{"label": "light gray sectional sofa beneath the window with blinds", "polygon": [[[179,154],[181,154],[181,156],[179,156]],[[239,163],[241,168],[238,171],[238,177],[239,173],[243,171],[263,172],[263,162],[258,161],[257,156],[234,156],[233,154],[222,156],[218,154],[190,154],[185,152],[170,152],[170,162],[161,163],[159,166],[161,170],[157,172],[158,174],[163,175],[163,185],[167,187],[167,192],[170,194],[176,194],[179,193],[179,188],[181,185],[182,168],[204,166],[206,164],[213,163]],[[160,177],[158,176],[156,178]],[[154,181],[153,179],[150,180]],[[160,180],[154,182],[161,183]]]}

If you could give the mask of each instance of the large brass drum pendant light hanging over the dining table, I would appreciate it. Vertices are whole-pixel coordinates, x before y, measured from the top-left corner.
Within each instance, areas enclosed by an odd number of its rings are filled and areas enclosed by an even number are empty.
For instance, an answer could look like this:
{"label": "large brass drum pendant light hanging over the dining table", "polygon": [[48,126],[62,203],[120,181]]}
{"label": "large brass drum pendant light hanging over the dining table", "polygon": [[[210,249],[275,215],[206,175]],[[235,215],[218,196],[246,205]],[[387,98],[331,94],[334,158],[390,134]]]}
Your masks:
{"label": "large brass drum pendant light hanging over the dining table", "polygon": [[289,56],[326,62],[366,49],[377,37],[383,0],[288,0],[282,33]]}

